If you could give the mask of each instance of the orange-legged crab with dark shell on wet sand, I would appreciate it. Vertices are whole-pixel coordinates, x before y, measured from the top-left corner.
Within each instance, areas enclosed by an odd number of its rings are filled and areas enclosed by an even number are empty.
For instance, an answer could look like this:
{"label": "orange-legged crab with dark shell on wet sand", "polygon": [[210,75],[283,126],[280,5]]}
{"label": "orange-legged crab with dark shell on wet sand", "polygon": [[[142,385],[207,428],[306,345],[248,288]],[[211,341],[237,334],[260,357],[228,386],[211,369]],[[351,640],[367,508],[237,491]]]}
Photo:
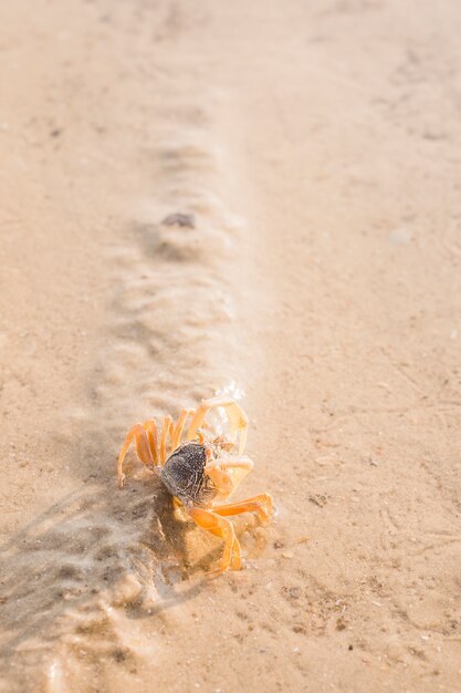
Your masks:
{"label": "orange-legged crab with dark shell on wet sand", "polygon": [[[207,422],[214,407],[226,411],[231,437],[218,434]],[[181,442],[189,417],[186,441]],[[135,441],[137,456],[158,474],[175,508],[184,508],[199,527],[224,540],[219,572],[240,570],[242,566],[240,544],[229,517],[256,513],[262,523],[268,523],[273,513],[270,494],[222,503],[253,468],[253,462],[243,454],[247,431],[247,414],[235,400],[216,396],[202,400],[197,410],[184,408],[176,424],[171,416],[165,416],[160,436],[155,418],[134,425],[118,456],[121,487],[125,479],[123,463]]]}

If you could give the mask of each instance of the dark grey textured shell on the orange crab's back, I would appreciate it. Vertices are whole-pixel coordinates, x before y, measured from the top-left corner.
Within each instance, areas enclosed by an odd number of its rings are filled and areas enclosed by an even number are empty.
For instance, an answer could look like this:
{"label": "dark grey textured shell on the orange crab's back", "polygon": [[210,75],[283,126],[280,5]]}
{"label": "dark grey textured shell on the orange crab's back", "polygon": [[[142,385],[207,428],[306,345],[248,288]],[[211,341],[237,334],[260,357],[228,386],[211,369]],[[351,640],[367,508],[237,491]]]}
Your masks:
{"label": "dark grey textured shell on the orange crab's back", "polygon": [[166,461],[160,478],[171,494],[186,507],[207,505],[218,493],[205,473],[207,454],[200,443],[185,443]]}

